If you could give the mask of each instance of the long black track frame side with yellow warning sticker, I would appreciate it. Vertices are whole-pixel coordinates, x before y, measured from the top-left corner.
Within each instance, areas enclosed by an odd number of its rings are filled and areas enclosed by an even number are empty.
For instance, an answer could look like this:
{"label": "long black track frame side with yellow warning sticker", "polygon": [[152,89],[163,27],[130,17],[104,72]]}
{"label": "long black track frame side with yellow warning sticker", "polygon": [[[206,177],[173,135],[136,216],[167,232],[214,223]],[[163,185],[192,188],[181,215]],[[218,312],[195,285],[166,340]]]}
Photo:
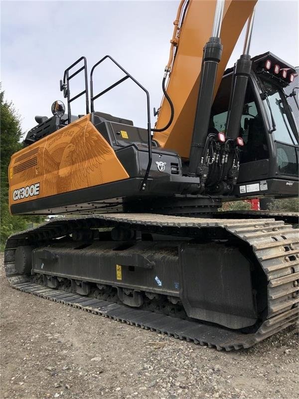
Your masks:
{"label": "long black track frame side with yellow warning sticker", "polygon": [[36,273],[179,296],[175,241],[71,242],[37,248],[32,258]]}

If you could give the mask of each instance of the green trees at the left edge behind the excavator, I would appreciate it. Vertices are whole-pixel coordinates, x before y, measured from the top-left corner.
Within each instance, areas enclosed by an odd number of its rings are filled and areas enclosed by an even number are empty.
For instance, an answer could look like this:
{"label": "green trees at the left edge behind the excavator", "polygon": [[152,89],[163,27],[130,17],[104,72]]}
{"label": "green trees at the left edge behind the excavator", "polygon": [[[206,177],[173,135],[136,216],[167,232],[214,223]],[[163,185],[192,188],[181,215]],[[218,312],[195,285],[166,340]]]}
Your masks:
{"label": "green trees at the left edge behind the excavator", "polygon": [[10,157],[22,148],[20,116],[11,102],[4,100],[0,91],[0,244],[1,248],[9,235],[24,230],[29,222],[40,222],[40,216],[12,216],[8,208],[8,165]]}

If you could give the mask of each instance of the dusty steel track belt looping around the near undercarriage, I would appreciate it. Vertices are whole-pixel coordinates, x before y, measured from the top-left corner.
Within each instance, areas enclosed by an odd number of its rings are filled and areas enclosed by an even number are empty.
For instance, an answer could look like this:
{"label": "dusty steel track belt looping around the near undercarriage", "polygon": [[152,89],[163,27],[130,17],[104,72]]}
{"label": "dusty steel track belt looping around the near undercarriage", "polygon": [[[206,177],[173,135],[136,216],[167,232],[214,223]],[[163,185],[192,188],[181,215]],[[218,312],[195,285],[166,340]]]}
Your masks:
{"label": "dusty steel track belt looping around the near undercarriage", "polygon": [[[185,321],[149,311],[132,309],[78,294],[69,294],[24,281],[14,268],[14,251],[32,236],[44,240],[59,237],[83,227],[106,227],[118,224],[142,231],[165,234],[194,234],[198,228],[221,227],[247,242],[259,260],[268,279],[268,317],[254,334],[242,334],[197,321]],[[33,234],[33,235],[32,235]],[[298,230],[274,219],[203,219],[160,214],[109,214],[54,219],[48,223],[15,234],[7,240],[5,269],[13,288],[50,300],[101,314],[121,322],[165,333],[217,349],[249,348],[255,343],[296,323],[299,303]],[[27,241],[28,242],[28,241]],[[93,301],[93,303],[91,303]]]}

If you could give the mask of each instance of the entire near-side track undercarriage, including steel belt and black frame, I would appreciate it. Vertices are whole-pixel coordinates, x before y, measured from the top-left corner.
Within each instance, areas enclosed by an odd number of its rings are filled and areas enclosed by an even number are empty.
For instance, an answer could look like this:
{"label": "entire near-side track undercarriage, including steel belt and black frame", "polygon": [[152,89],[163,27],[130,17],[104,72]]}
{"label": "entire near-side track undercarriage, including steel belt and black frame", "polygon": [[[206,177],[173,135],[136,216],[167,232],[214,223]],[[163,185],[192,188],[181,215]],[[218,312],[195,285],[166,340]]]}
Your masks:
{"label": "entire near-side track undercarriage, including steel belt and black frame", "polygon": [[55,218],[8,239],[6,275],[16,289],[128,324],[248,348],[296,322],[298,230],[268,214],[216,215]]}

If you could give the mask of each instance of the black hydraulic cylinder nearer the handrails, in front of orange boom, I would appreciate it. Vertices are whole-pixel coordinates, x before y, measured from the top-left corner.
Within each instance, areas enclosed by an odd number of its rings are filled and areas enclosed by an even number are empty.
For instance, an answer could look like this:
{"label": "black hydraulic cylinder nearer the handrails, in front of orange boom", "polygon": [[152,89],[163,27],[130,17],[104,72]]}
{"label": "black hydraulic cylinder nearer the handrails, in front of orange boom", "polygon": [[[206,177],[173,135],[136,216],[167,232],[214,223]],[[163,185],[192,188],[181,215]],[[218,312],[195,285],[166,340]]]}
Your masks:
{"label": "black hydraulic cylinder nearer the handrails, in front of orange boom", "polygon": [[202,175],[200,164],[208,135],[215,80],[221,54],[220,38],[210,37],[203,50],[201,79],[189,156],[189,175],[193,176]]}

